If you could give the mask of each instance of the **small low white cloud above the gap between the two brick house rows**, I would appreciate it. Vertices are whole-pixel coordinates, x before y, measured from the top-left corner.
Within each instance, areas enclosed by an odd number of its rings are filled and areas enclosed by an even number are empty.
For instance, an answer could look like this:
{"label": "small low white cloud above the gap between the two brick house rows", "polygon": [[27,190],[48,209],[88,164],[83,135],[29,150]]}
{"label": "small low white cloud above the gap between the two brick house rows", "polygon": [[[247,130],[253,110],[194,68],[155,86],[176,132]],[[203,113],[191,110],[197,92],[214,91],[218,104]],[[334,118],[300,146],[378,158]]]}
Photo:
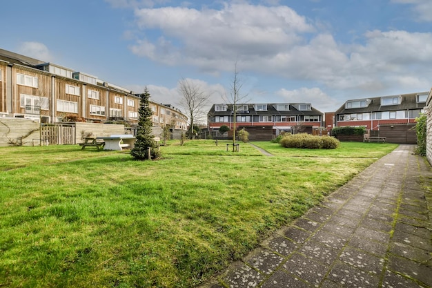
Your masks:
{"label": "small low white cloud above the gap between the two brick house rows", "polygon": [[336,99],[326,95],[320,88],[300,88],[295,90],[282,88],[277,90],[276,94],[288,103],[311,103],[313,108],[323,113],[334,111],[335,106],[340,105],[339,102],[336,102]]}

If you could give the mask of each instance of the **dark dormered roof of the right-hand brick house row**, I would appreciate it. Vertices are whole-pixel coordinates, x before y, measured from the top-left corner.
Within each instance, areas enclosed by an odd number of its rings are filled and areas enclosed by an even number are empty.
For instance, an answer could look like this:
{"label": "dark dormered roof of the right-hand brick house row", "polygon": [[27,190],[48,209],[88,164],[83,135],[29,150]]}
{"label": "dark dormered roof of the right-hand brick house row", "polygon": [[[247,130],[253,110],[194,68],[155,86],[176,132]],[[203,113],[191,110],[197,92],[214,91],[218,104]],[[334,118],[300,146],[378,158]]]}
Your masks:
{"label": "dark dormered roof of the right-hand brick house row", "polygon": [[[380,112],[380,111],[396,111],[396,110],[411,110],[411,109],[421,109],[426,106],[426,103],[418,103],[417,95],[427,94],[427,92],[402,94],[402,95],[388,95],[382,97],[372,97],[372,98],[360,98],[360,99],[350,99],[346,101],[335,114],[349,114],[349,113],[370,113],[370,112]],[[381,98],[386,97],[402,97],[402,101],[397,105],[384,105],[381,106]],[[347,102],[353,102],[357,100],[366,100],[369,102],[367,107],[362,108],[345,108]]]}

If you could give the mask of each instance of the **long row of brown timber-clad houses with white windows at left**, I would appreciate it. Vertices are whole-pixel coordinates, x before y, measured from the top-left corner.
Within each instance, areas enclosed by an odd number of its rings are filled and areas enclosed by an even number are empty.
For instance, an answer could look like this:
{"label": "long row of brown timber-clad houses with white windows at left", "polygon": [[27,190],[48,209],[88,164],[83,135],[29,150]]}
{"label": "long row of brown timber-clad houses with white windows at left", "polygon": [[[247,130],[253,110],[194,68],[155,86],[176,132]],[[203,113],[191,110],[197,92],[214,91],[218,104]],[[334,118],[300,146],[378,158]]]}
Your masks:
{"label": "long row of brown timber-clad houses with white windows at left", "polygon": [[[70,68],[0,49],[0,119],[122,122],[136,126],[139,94]],[[153,126],[187,130],[188,119],[170,104],[150,101]]]}

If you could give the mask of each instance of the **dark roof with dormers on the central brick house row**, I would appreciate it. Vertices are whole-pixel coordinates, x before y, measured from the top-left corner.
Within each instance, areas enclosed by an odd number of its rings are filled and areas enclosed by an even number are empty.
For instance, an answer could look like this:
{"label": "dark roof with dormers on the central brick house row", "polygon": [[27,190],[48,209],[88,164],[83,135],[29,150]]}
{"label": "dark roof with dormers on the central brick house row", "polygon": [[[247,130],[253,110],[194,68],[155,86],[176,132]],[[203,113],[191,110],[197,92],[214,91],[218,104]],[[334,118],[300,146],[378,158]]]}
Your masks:
{"label": "dark roof with dormers on the central brick house row", "polygon": [[[257,103],[257,104],[237,104],[237,106],[247,105],[248,111],[237,111],[237,115],[322,115],[322,112],[311,106],[311,110],[298,110],[295,108],[295,104],[289,103],[267,103],[267,111],[255,111],[255,105],[266,104],[266,103]],[[277,104],[288,104],[289,111],[277,111],[275,106]],[[302,103],[309,104],[309,103]],[[215,111],[216,105],[226,105],[226,111]],[[210,108],[210,111],[207,113],[208,115],[218,115],[218,116],[226,116],[233,115],[233,104],[213,104]]]}

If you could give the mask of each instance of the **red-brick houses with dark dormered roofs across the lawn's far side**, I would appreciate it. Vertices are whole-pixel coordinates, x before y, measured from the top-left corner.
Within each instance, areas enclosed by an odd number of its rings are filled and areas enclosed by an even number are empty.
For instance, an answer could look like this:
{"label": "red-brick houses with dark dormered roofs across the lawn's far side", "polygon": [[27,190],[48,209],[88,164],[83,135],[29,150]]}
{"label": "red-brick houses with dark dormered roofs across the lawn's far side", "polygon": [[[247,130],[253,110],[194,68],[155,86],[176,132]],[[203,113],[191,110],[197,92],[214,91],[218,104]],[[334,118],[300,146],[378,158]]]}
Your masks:
{"label": "red-brick houses with dark dormered roofs across the lawn's far side", "polygon": [[246,128],[251,140],[268,140],[282,132],[322,135],[333,127],[364,126],[369,135],[388,135],[389,142],[415,143],[415,118],[424,113],[428,95],[350,99],[337,111],[325,114],[311,103],[214,104],[207,114],[208,131],[217,137],[219,127],[233,128],[235,124]]}

